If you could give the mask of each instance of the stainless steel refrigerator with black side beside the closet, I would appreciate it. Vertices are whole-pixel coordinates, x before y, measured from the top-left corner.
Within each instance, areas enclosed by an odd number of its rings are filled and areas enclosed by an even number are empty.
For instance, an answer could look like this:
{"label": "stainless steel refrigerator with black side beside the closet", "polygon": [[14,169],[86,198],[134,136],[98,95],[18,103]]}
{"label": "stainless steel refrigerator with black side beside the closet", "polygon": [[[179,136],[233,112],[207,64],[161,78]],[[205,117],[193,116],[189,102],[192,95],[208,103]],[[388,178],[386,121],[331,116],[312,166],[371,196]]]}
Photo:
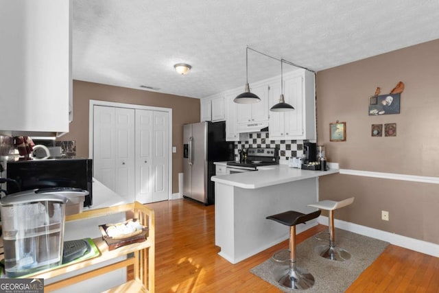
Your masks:
{"label": "stainless steel refrigerator with black side beside the closet", "polygon": [[183,126],[183,196],[204,204],[215,203],[216,161],[233,161],[235,144],[226,141],[225,122]]}

